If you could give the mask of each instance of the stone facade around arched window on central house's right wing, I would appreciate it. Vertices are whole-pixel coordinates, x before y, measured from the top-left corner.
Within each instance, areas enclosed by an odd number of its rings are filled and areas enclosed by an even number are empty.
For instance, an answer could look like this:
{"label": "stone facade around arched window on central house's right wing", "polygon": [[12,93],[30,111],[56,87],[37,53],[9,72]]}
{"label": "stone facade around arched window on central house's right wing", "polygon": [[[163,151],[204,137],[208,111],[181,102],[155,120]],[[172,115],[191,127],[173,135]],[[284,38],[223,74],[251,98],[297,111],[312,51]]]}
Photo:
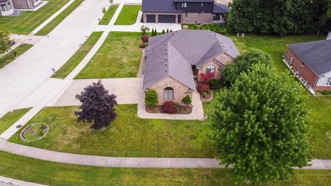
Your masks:
{"label": "stone facade around arched window on central house's right wing", "polygon": [[[233,63],[234,59],[232,57],[228,56],[228,54],[222,53],[221,55],[215,57],[217,61],[220,61],[223,65],[226,65],[228,63]],[[209,65],[213,65],[215,67],[215,79],[221,79],[222,73],[221,69],[223,68],[223,65],[220,65],[218,62],[212,60],[208,63],[205,63],[201,69],[198,70],[198,81],[201,82],[200,75],[201,73],[205,73],[207,70],[207,67]]]}

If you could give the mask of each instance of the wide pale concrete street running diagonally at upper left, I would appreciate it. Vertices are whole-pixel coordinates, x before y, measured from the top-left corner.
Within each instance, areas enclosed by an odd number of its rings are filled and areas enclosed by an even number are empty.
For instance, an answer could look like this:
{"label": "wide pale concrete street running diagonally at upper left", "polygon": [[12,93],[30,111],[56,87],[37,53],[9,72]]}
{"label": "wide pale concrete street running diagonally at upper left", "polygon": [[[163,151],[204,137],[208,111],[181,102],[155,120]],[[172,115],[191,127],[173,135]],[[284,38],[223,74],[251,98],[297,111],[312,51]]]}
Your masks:
{"label": "wide pale concrete street running diagonally at upper left", "polygon": [[[0,70],[0,117],[52,76],[93,32],[108,0],[83,1],[48,37]],[[43,99],[43,98],[39,98]]]}

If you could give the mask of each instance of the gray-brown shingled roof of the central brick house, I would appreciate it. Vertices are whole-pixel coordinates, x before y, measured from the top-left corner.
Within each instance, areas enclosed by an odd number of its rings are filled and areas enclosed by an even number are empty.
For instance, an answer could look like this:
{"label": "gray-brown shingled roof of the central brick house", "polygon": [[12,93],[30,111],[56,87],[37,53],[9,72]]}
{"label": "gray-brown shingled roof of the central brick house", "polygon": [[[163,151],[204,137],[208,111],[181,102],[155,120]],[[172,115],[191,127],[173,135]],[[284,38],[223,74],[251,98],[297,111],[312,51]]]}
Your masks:
{"label": "gray-brown shingled roof of the central brick house", "polygon": [[223,52],[232,58],[239,55],[232,39],[210,30],[179,30],[151,37],[143,90],[168,76],[196,90],[191,65],[201,68]]}

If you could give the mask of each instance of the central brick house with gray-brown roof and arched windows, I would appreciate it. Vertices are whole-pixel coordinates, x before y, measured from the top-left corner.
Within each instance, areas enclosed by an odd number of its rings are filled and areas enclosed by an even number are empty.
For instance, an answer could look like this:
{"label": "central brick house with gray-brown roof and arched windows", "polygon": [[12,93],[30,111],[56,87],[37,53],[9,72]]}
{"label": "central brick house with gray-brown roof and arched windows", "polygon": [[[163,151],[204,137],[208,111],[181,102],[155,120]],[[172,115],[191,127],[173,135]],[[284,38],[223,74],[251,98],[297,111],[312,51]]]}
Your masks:
{"label": "central brick house with gray-brown roof and arched windows", "polygon": [[210,30],[179,30],[151,37],[146,48],[143,90],[157,91],[159,103],[181,103],[197,90],[199,74],[214,73],[232,63],[239,51],[232,39]]}

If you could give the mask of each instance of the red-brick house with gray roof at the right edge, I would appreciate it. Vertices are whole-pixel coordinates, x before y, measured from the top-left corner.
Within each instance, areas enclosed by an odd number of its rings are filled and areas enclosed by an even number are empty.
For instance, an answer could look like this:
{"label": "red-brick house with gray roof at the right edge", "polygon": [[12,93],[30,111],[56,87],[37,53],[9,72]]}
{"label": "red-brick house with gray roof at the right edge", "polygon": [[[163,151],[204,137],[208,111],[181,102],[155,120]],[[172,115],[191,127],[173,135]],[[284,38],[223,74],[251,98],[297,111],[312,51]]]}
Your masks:
{"label": "red-brick house with gray roof at the right edge", "polygon": [[290,44],[286,59],[313,90],[331,90],[331,39]]}

